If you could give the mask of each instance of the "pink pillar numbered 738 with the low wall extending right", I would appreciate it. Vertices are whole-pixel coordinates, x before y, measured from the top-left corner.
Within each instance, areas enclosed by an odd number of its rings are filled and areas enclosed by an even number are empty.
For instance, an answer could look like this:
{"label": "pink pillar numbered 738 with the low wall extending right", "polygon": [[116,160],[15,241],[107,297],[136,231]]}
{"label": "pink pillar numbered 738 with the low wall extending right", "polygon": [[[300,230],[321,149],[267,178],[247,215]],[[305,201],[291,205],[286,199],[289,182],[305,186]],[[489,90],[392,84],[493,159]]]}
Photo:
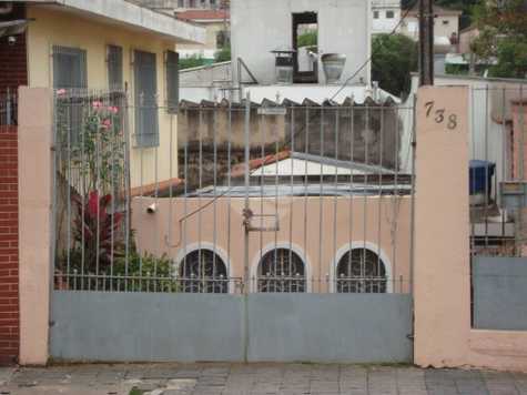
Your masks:
{"label": "pink pillar numbered 738 with the low wall extending right", "polygon": [[[426,115],[430,102],[457,117],[455,129]],[[527,332],[470,328],[467,115],[467,88],[419,90],[415,363],[527,371]]]}

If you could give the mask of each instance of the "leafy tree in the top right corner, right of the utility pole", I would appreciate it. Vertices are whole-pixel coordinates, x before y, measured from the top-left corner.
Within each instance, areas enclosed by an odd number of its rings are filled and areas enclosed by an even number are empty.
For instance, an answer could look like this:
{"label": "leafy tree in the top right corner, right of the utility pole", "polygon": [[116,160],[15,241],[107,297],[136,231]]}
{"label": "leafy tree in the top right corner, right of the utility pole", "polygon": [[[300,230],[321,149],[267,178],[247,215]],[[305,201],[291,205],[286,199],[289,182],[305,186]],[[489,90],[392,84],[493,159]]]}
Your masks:
{"label": "leafy tree in the top right corner, right of the utility pole", "polygon": [[496,59],[491,77],[527,77],[527,4],[524,0],[488,0],[475,8],[479,37],[472,50],[482,59]]}

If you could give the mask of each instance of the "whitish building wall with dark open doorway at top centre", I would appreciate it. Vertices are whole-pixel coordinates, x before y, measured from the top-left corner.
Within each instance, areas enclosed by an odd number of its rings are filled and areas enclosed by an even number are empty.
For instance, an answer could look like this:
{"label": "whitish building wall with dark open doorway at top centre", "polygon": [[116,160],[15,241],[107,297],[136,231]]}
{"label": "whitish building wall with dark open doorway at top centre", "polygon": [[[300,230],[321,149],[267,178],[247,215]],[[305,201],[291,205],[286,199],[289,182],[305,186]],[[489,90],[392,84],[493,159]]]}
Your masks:
{"label": "whitish building wall with dark open doorway at top centre", "polygon": [[[231,12],[232,59],[242,59],[261,84],[276,82],[278,70],[274,65],[278,61],[275,58],[286,58],[288,53],[293,57],[295,83],[327,82],[320,61],[323,54],[346,57],[341,81],[352,77],[369,58],[372,11],[368,1],[235,0],[231,2]],[[302,26],[315,27],[316,37],[316,41],[312,41],[315,45],[305,55],[312,59],[304,62],[301,61],[306,53],[301,50]],[[237,81],[236,68],[233,74]],[[369,67],[363,68],[349,82],[361,81],[369,82]]]}

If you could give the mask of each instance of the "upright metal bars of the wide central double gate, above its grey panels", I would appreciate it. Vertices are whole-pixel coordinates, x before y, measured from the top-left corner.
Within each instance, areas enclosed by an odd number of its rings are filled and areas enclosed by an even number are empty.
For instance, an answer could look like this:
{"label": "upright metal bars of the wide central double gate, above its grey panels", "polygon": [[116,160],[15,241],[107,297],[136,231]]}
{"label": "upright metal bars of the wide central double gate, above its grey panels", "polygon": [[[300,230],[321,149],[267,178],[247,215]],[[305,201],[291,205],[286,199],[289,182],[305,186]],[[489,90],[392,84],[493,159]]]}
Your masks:
{"label": "upright metal bars of the wide central double gate, above its grey panels", "polygon": [[57,290],[411,292],[412,104],[133,99],[55,93]]}

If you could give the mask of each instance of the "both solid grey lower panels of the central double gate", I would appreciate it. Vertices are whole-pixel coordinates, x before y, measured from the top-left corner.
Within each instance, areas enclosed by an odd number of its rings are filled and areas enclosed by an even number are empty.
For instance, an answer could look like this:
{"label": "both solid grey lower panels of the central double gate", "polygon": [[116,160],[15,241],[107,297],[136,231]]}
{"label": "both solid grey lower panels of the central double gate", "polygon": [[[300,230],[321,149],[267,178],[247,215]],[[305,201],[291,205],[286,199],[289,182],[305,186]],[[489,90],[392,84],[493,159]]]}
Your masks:
{"label": "both solid grey lower panels of the central double gate", "polygon": [[251,294],[247,333],[244,297],[54,291],[51,356],[107,362],[412,361],[409,295]]}

